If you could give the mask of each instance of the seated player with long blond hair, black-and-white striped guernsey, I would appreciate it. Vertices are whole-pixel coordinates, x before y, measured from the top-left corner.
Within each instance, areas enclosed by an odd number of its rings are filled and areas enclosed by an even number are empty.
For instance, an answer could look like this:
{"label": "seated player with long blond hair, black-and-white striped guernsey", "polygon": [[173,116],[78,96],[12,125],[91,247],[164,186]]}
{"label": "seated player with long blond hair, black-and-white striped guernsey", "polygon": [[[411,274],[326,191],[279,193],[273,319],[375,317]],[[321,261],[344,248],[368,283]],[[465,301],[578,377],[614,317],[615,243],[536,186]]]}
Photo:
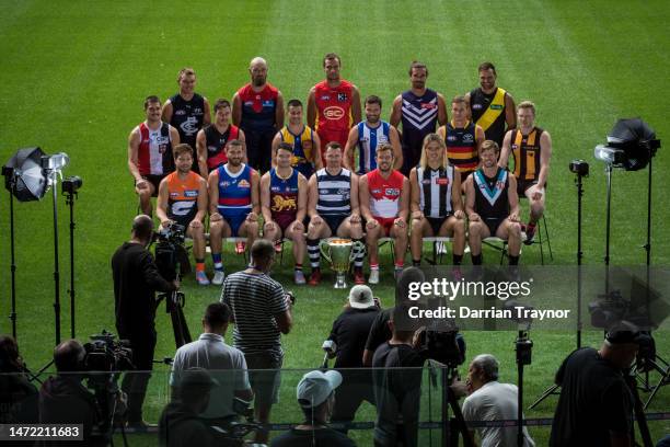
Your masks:
{"label": "seated player with long blond hair, black-and-white striped guernsey", "polygon": [[419,165],[412,169],[412,265],[421,264],[424,237],[453,237],[453,265],[461,265],[465,250],[465,214],[461,177],[447,158],[444,140],[428,134]]}

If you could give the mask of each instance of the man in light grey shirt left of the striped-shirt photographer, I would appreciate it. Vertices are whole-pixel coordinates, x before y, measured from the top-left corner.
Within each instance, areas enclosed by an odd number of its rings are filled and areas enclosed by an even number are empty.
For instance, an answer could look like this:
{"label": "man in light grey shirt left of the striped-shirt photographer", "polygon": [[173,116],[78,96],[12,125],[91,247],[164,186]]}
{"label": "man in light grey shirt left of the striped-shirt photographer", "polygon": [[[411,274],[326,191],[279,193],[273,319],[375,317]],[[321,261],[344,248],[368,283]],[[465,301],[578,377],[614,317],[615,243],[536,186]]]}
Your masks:
{"label": "man in light grey shirt left of the striped-shirt photographer", "polygon": [[231,311],[227,305],[209,305],[203,317],[204,333],[197,341],[180,347],[174,355],[170,376],[173,397],[178,398],[184,371],[193,367],[207,369],[218,382],[211,389],[207,409],[200,414],[205,419],[221,420],[234,416],[234,398],[250,401],[253,396],[244,355],[223,340],[230,317]]}

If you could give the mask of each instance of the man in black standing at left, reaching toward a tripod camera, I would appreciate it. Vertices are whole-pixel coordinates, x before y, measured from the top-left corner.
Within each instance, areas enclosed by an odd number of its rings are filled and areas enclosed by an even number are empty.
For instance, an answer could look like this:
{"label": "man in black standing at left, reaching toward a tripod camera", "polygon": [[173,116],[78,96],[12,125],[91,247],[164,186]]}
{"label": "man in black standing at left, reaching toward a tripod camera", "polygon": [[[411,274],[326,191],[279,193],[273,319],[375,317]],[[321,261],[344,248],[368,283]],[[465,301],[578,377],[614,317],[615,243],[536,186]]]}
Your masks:
{"label": "man in black standing at left, reaching toward a tripod camera", "polygon": [[142,373],[124,376],[122,389],[128,394],[128,426],[146,428],[142,403],[153,368],[155,348],[155,291],[174,291],[178,282],[169,283],[159,273],[147,247],[153,234],[153,221],[139,215],[132,221],[130,241],[116,250],[112,257],[116,330],[122,340],[130,342],[132,364]]}

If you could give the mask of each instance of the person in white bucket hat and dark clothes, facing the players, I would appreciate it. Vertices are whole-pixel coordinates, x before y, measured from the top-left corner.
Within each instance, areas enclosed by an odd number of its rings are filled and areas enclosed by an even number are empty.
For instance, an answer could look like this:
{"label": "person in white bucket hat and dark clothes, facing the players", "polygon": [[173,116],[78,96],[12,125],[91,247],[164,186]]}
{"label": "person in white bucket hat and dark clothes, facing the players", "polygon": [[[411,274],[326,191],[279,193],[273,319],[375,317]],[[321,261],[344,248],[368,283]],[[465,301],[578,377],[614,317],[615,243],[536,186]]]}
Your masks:
{"label": "person in white bucket hat and dark clothes, facing the players", "polygon": [[[370,287],[358,285],[351,287],[348,302],[333,322],[328,341],[335,344],[332,349],[332,355],[335,356],[334,367],[344,377],[344,383],[336,393],[333,422],[354,421],[356,411],[363,400],[374,404],[372,376],[370,371],[360,368],[363,368],[362,354],[368,334],[379,312],[379,301],[372,296]],[[347,428],[340,432],[346,434]]]}

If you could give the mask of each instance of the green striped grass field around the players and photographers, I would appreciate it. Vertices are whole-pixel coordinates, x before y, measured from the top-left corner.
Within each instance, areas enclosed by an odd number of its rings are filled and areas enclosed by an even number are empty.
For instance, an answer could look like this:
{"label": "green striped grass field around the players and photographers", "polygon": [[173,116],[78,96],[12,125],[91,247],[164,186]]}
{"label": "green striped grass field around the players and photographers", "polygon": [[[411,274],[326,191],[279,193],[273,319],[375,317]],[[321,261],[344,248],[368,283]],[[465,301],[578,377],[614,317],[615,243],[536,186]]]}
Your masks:
{"label": "green striped grass field around the players and photographers", "polygon": [[[81,175],[76,205],[77,335],[84,339],[102,328],[114,328],[109,257],[129,234],[137,209],[126,167],[126,140],[143,119],[142,101],[176,91],[176,73],[184,66],[198,74],[197,91],[210,102],[230,99],[247,82],[254,56],[269,64],[269,81],[285,99],[305,100],[323,78],[322,56],[342,56],[343,76],[361,95],[384,101],[388,118],[393,98],[407,89],[406,70],[413,59],[425,61],[428,87],[451,98],[477,84],[476,67],[492,60],[498,83],[517,100],[532,100],[538,124],[551,131],[554,144],[547,199],[547,221],[554,264],[576,263],[577,194],[567,165],[581,158],[591,164],[585,180],[584,252],[586,264],[602,264],[604,254],[605,181],[603,165],[592,149],[620,117],[640,116],[661,139],[670,135],[665,81],[670,61],[667,32],[670,8],[661,1],[430,1],[343,2],[0,2],[0,161],[16,149],[41,146],[65,151],[71,165],[63,174]],[[663,31],[666,30],[666,31]],[[668,145],[666,145],[668,146]],[[662,179],[670,169],[666,148],[654,161],[652,263],[670,264],[670,208]],[[613,174],[612,263],[645,262],[647,171]],[[10,312],[9,211],[0,206],[0,313]],[[62,336],[70,332],[68,288],[68,216],[58,197]],[[54,346],[54,255],[51,202],[15,204],[16,295],[19,342],[33,368],[45,364]],[[385,254],[384,260],[389,260]],[[242,268],[241,256],[228,252],[227,271]],[[495,262],[495,253],[488,253]],[[209,262],[209,260],[208,260]],[[528,249],[524,264],[539,264],[538,248]],[[290,256],[275,277],[291,284]],[[386,268],[386,273],[390,266]],[[376,289],[384,302],[393,300],[390,275]],[[340,311],[345,295],[334,294],[330,279],[317,289],[292,287],[298,306],[294,330],[284,337],[285,365],[312,368],[321,360],[321,341]],[[218,298],[215,287],[197,288],[186,278],[186,316],[194,334],[206,303]],[[157,357],[172,356],[169,319],[158,318]],[[0,332],[11,331],[0,320]],[[509,336],[508,336],[509,335]],[[513,334],[466,334],[469,357],[492,352],[503,362],[503,380],[516,381]],[[599,333],[587,333],[597,345]],[[573,332],[535,332],[534,362],[528,368],[527,401],[546,388],[559,362],[574,346]],[[661,352],[670,356],[668,333],[657,334]],[[159,371],[166,370],[158,367]],[[463,369],[464,370],[464,369]],[[160,374],[152,381],[150,416],[162,392]],[[298,377],[298,375],[296,375]],[[285,380],[276,414],[296,414],[292,387]],[[527,416],[551,416],[556,398]],[[660,391],[655,411],[670,404]],[[367,412],[367,420],[372,413]],[[279,417],[282,419],[282,417]],[[670,432],[670,423],[650,424],[655,438]],[[545,445],[548,429],[532,429]],[[367,434],[357,434],[361,445]],[[132,443],[132,442],[131,442]],[[142,443],[136,442],[134,445]],[[150,443],[148,443],[150,444]]]}

